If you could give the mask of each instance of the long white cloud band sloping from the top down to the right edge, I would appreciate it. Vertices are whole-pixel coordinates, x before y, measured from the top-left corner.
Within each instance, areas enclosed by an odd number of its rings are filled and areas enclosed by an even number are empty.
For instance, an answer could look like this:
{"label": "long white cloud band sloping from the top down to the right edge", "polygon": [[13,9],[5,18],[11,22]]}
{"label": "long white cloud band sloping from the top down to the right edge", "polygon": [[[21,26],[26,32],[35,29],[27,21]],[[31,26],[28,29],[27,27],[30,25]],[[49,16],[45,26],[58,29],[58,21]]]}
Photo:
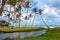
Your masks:
{"label": "long white cloud band sloping from the top down to the right edge", "polygon": [[48,14],[54,17],[60,17],[59,15],[60,10],[57,10],[57,8],[50,7],[48,4],[44,2],[40,2],[40,0],[36,0],[36,2],[38,2],[37,4],[38,9],[43,9],[43,12],[42,12],[43,14]]}

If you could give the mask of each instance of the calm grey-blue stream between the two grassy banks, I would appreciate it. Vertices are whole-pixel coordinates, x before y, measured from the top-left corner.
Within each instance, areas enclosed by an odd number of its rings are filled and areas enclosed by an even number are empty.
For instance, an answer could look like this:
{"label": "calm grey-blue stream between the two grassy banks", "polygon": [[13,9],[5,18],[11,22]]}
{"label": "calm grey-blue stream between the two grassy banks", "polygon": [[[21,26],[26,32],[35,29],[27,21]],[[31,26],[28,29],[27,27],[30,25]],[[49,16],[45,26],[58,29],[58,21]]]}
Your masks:
{"label": "calm grey-blue stream between the two grassy banks", "polygon": [[25,38],[25,37],[29,37],[29,36],[39,36],[42,34],[45,34],[46,30],[40,30],[40,31],[33,31],[33,32],[17,32],[17,33],[0,33],[0,40],[3,40],[6,37],[10,37],[10,38]]}

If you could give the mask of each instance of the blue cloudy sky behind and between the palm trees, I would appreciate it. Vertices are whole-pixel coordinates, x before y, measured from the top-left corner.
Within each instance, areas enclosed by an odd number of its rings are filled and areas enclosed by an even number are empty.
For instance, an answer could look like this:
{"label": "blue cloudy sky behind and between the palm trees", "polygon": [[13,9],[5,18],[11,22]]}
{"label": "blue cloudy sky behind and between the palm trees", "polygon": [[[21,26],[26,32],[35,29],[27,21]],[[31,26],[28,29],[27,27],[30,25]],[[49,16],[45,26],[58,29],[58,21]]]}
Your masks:
{"label": "blue cloudy sky behind and between the palm trees", "polygon": [[[8,7],[9,7],[9,5],[8,6],[5,5],[4,10],[7,9]],[[33,0],[33,3],[31,3],[31,7],[32,8],[36,7],[37,9],[43,10],[42,16],[43,16],[44,21],[48,25],[57,25],[57,26],[60,25],[60,0]],[[29,9],[28,15],[31,13],[32,8]],[[12,10],[14,10],[13,7],[12,7]],[[27,9],[23,8],[22,10],[23,10],[22,16],[25,17],[27,14]],[[31,19],[27,20],[27,25],[32,25],[34,13],[32,13],[32,15],[33,15],[33,17]],[[21,18],[23,20],[23,22],[21,22],[20,25],[25,25],[26,20],[23,19],[24,17]],[[7,20],[7,18],[5,18],[5,17],[0,17],[0,20],[1,19]],[[12,22],[11,22],[11,24],[13,25]],[[45,24],[41,20],[40,15],[37,14],[35,16],[33,26],[41,26],[41,25],[45,25]]]}

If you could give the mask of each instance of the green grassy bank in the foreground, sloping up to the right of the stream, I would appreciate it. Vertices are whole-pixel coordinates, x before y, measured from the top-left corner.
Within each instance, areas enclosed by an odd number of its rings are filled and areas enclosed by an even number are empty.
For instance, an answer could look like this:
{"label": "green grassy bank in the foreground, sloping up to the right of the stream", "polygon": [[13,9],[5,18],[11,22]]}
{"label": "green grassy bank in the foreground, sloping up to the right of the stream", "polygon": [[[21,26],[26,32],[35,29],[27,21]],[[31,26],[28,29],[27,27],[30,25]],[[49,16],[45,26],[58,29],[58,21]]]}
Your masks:
{"label": "green grassy bank in the foreground, sloping up to the right of the stream", "polygon": [[[17,38],[17,39],[13,38],[13,39],[20,40],[20,38]],[[11,40],[13,40],[13,39],[11,39]],[[7,38],[6,38],[6,40],[7,40]],[[60,40],[60,27],[56,27],[42,36],[27,37],[27,38],[24,38],[23,40]]]}

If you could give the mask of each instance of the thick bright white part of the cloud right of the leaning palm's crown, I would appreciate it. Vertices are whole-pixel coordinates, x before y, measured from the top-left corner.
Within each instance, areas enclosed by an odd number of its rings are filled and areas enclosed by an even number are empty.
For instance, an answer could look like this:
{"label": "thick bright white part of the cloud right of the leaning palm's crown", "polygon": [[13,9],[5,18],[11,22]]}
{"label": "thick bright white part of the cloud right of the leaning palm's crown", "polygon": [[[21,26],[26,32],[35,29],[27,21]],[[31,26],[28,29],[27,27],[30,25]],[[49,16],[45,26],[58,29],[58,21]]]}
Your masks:
{"label": "thick bright white part of the cloud right of the leaning palm's crown", "polygon": [[43,13],[54,17],[60,17],[60,15],[58,14],[55,8],[46,7]]}

